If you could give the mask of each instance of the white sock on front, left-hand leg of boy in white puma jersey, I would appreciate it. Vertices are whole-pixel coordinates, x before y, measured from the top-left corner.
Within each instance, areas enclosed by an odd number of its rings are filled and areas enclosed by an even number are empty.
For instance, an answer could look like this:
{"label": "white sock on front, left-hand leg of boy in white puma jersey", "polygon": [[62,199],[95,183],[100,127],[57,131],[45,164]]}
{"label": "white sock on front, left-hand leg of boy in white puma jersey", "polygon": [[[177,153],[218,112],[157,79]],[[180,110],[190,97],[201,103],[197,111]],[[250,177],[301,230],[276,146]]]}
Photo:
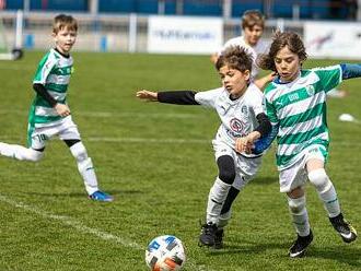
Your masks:
{"label": "white sock on front, left-hand leg of boy in white puma jersey", "polygon": [[231,185],[225,184],[217,177],[212,188],[209,191],[207,204],[207,223],[219,224],[221,210],[226,199]]}

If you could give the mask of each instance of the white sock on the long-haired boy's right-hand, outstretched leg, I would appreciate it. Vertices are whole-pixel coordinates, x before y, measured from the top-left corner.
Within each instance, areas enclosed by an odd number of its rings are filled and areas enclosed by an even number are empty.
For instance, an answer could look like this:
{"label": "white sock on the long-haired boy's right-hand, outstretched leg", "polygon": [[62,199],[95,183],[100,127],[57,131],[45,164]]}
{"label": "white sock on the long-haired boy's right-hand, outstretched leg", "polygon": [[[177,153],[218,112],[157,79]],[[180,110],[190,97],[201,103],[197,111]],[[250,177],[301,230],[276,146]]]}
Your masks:
{"label": "white sock on the long-haired boy's right-hand, outstretched leg", "polygon": [[329,217],[337,216],[341,210],[335,187],[324,168],[308,173],[310,181],[316,187],[319,199],[324,202]]}

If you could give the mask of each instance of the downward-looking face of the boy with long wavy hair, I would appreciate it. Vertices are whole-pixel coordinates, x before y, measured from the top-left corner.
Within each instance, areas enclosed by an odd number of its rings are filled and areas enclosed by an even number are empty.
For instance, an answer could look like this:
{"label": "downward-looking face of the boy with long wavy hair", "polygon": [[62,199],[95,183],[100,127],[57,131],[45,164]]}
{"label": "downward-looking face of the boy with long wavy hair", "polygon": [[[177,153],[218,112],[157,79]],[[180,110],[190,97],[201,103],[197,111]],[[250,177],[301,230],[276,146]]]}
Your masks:
{"label": "downward-looking face of the boy with long wavy hair", "polygon": [[288,46],[280,49],[275,57],[275,66],[282,82],[291,82],[299,75],[301,61],[299,55],[292,52]]}

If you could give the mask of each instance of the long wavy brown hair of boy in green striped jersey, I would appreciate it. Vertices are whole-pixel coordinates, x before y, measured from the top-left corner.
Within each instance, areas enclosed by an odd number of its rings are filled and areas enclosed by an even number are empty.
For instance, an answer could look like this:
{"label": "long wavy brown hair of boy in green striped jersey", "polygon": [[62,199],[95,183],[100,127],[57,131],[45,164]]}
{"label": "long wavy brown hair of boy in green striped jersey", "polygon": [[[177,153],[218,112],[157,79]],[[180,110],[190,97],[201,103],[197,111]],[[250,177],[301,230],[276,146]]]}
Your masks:
{"label": "long wavy brown hair of boy in green striped jersey", "polygon": [[257,64],[263,70],[276,71],[275,57],[279,50],[288,46],[290,51],[296,54],[300,61],[307,59],[306,49],[299,34],[294,32],[280,32],[277,31],[272,37],[272,44],[268,54],[260,55],[257,58]]}

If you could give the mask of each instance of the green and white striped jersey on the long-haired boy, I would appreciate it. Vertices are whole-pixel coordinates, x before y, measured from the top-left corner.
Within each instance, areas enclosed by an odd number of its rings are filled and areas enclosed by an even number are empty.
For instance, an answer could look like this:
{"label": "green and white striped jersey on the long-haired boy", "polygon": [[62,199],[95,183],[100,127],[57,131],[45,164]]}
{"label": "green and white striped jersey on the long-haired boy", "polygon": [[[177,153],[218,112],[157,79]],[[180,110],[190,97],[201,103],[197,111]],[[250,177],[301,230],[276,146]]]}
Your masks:
{"label": "green and white striped jersey on the long-haired boy", "polygon": [[323,145],[327,156],[326,93],[341,81],[341,67],[331,66],[301,70],[294,81],[276,80],[266,87],[266,113],[272,125],[279,125],[276,154],[279,170],[302,158],[301,152],[313,144]]}

